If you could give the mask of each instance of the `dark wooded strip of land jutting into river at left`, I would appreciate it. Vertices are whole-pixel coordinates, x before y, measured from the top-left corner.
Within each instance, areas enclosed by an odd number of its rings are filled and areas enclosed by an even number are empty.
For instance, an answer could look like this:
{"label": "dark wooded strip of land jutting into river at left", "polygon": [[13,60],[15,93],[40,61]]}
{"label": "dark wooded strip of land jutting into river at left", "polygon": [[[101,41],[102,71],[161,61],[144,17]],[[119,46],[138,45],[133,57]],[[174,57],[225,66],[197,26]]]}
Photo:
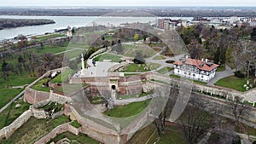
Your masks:
{"label": "dark wooded strip of land jutting into river at left", "polygon": [[3,30],[4,28],[38,26],[47,24],[55,24],[55,21],[47,19],[0,19],[0,30]]}

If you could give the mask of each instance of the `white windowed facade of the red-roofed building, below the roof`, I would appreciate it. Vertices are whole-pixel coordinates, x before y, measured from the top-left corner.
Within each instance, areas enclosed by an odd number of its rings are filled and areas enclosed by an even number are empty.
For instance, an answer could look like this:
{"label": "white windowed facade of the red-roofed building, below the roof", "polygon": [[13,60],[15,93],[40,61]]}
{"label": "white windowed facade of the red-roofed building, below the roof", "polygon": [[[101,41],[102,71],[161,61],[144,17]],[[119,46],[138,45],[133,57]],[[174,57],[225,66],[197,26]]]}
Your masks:
{"label": "white windowed facade of the red-roofed building, below the roof", "polygon": [[174,74],[184,78],[208,82],[215,77],[216,69],[217,68],[214,68],[212,71],[209,72],[200,70],[199,68],[197,68],[197,66],[187,64],[174,65]]}

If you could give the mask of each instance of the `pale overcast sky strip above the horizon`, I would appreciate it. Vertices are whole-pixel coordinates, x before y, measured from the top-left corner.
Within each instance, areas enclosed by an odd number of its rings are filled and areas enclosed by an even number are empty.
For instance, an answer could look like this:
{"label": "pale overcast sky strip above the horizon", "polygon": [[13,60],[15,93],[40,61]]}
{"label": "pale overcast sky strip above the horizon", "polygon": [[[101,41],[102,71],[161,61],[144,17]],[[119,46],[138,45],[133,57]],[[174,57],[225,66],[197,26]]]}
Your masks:
{"label": "pale overcast sky strip above the horizon", "polygon": [[0,0],[0,6],[256,6],[255,0]]}

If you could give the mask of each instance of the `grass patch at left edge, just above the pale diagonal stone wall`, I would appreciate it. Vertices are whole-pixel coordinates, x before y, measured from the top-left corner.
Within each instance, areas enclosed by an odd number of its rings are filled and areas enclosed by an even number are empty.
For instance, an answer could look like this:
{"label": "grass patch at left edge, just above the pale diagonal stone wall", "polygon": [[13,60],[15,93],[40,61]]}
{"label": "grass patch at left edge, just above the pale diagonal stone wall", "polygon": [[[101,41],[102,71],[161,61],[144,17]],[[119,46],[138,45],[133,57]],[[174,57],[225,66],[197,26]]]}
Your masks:
{"label": "grass patch at left edge, just above the pale diagonal stone wall", "polygon": [[[20,104],[19,108],[15,108],[16,104]],[[30,104],[23,101],[22,98],[12,103],[3,112],[0,113],[0,130],[15,121],[23,112],[29,109]]]}

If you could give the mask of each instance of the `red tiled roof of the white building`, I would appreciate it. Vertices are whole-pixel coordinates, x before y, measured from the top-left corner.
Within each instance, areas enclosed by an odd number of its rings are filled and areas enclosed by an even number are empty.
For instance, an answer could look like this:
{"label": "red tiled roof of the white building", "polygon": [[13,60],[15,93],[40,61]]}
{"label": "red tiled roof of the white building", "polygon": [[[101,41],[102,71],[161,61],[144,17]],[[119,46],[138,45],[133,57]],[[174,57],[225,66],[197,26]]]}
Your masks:
{"label": "red tiled roof of the white building", "polygon": [[[202,66],[201,63],[203,64]],[[202,60],[195,60],[195,59],[186,59],[186,61],[183,63],[183,61],[175,61],[173,63],[174,65],[192,65],[192,66],[196,66],[198,69],[203,70],[203,71],[212,71],[214,68],[218,67],[217,64],[212,63],[211,66],[208,66],[207,63],[205,61]]]}

